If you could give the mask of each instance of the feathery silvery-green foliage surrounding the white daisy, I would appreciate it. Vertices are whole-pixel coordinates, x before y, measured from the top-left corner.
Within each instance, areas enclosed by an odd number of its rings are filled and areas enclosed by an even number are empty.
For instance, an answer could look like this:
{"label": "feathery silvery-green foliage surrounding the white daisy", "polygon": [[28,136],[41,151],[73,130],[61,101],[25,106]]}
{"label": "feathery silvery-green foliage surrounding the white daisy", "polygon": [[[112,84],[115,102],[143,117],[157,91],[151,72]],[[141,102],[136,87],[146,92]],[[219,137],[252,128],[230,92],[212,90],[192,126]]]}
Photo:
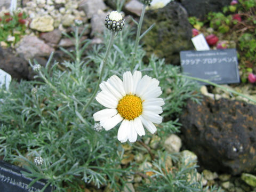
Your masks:
{"label": "feathery silvery-green foliage surrounding the white daisy", "polygon": [[[121,77],[124,71],[130,70],[133,35],[128,26],[118,33],[103,80],[113,74]],[[82,113],[97,84],[106,46],[95,45],[84,55],[90,41],[81,41],[78,28],[74,29],[73,36],[74,51],[62,49],[71,61],[55,62],[52,54],[46,66],[37,70],[34,81],[13,81],[10,91],[0,90],[0,98],[3,98],[0,103],[0,156],[4,161],[26,167],[30,171],[26,173],[28,177],[46,179],[47,185],[54,186],[55,191],[82,191],[81,185],[108,185],[121,191],[125,178],[134,174],[138,165],[121,166],[124,149],[116,139],[117,129],[94,130],[92,115],[102,109],[97,101]],[[105,33],[104,39],[109,39],[109,33]],[[165,105],[164,123],[158,129],[163,127],[161,131],[166,134],[159,133],[159,136],[164,140],[167,134],[179,131],[176,115],[181,113],[187,99],[197,99],[198,86],[180,76],[179,67],[154,55],[151,58],[145,55],[139,46],[134,57],[135,69],[160,82]],[[31,62],[32,67],[36,65],[36,61]],[[148,137],[146,135],[145,140]],[[35,165],[36,156],[44,159],[41,166]],[[171,179],[178,183],[183,180],[182,177]]]}

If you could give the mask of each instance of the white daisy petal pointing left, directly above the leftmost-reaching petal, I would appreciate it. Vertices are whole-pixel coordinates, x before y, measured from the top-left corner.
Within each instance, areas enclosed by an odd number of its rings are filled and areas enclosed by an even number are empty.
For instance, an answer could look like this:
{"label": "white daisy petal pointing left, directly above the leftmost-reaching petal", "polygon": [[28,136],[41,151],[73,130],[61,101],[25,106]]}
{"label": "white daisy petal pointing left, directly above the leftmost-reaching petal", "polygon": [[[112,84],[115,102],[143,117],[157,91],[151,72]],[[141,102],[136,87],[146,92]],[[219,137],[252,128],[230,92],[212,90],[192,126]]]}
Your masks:
{"label": "white daisy petal pointing left, directly above the leftmost-reaching petal", "polygon": [[111,95],[109,95],[107,92],[105,91],[101,91],[97,94],[97,96],[95,97],[95,99],[103,106],[107,107],[107,108],[113,108],[115,109],[117,107],[118,101],[116,98],[114,97],[109,97]]}

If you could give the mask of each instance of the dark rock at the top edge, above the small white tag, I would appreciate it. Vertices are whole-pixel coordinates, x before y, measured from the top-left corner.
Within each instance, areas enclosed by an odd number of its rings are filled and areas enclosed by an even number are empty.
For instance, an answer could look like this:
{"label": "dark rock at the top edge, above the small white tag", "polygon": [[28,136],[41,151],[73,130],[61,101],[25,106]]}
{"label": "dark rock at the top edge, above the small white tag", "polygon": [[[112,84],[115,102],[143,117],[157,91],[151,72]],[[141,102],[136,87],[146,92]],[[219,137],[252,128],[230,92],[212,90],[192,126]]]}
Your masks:
{"label": "dark rock at the top edge, above the small white tag", "polygon": [[223,6],[229,5],[230,2],[230,0],[181,0],[189,17],[195,16],[199,19],[204,19],[209,12],[222,11]]}

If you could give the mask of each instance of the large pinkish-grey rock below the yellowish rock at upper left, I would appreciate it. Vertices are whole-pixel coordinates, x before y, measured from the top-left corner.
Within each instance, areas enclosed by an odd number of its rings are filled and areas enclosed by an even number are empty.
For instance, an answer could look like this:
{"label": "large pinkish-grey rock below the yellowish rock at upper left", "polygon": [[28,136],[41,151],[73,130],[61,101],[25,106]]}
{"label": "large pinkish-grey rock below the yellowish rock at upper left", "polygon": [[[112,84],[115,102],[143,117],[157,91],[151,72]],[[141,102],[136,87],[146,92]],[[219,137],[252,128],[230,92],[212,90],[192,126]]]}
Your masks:
{"label": "large pinkish-grey rock below the yellowish rock at upper left", "polygon": [[50,55],[54,49],[36,36],[24,36],[17,47],[17,53],[23,54],[25,59],[37,56]]}

